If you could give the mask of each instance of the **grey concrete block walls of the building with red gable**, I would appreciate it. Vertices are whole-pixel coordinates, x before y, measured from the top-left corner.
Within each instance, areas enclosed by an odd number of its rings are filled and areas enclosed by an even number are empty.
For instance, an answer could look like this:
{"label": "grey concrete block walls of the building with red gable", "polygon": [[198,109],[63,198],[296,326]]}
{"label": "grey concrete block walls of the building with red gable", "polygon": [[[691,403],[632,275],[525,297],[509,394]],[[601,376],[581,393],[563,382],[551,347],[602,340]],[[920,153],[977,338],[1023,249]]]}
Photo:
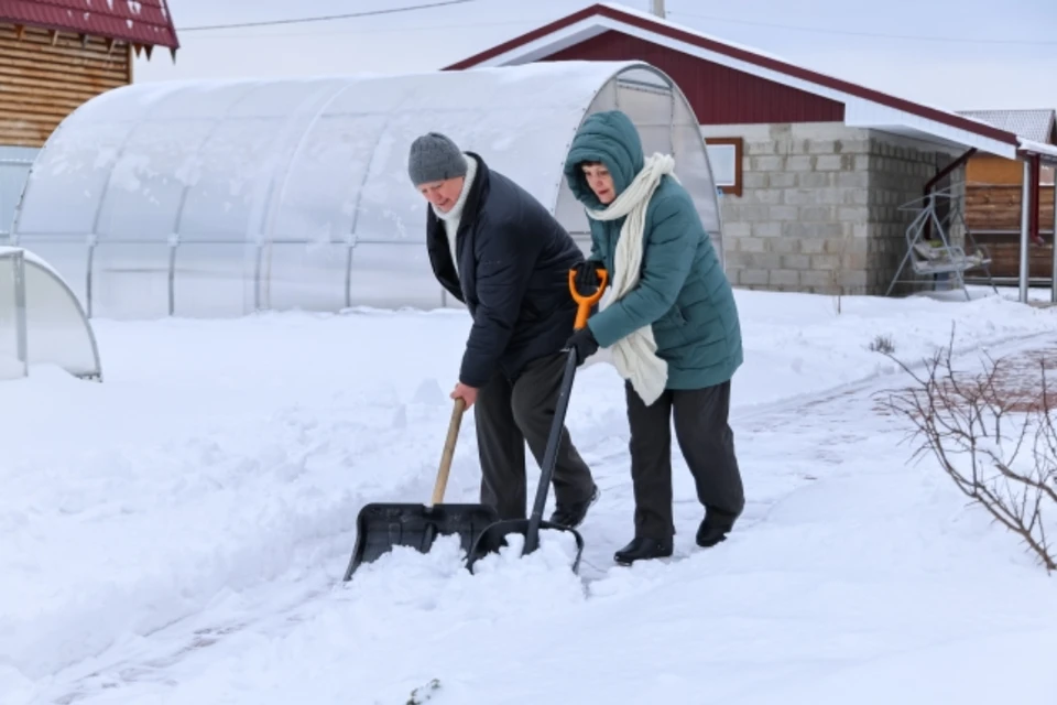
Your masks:
{"label": "grey concrete block walls of the building with red gable", "polygon": [[735,286],[826,294],[884,293],[922,195],[950,155],[841,123],[702,126],[741,137],[742,195],[720,203]]}

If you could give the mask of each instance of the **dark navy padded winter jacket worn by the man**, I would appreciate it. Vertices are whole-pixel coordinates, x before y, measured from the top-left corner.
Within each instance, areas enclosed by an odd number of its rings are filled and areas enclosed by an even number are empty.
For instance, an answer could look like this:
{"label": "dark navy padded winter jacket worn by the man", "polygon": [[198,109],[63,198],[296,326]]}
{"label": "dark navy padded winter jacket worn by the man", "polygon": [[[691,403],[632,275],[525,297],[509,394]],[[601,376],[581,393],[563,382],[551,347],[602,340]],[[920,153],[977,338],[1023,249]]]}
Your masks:
{"label": "dark navy padded winter jacket worn by the man", "polygon": [[584,254],[528,192],[467,156],[477,174],[456,235],[458,273],[432,207],[426,247],[437,281],[473,316],[459,381],[479,388],[497,371],[513,381],[526,362],[565,346],[576,318],[569,270]]}

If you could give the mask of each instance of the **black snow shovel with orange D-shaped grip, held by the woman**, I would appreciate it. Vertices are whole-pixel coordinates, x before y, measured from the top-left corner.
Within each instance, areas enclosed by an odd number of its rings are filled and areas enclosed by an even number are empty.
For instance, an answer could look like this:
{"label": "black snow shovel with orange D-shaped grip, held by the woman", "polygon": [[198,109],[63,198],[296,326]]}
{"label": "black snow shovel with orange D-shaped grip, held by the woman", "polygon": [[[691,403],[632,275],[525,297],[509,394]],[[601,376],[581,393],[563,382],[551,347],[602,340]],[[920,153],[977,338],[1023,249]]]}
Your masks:
{"label": "black snow shovel with orange D-shaped grip, held by the woman", "polygon": [[[577,304],[576,322],[574,328],[579,330],[587,325],[587,317],[591,313],[591,306],[597,304],[606,291],[606,281],[608,272],[604,269],[596,270],[598,273],[598,291],[590,295],[582,295],[576,289],[576,270],[569,270],[569,292]],[[489,553],[498,553],[500,549],[509,545],[506,536],[512,533],[524,534],[525,541],[522,544],[521,555],[532,553],[540,547],[540,530],[551,529],[556,531],[567,531],[576,540],[576,557],[573,560],[573,572],[579,571],[580,555],[584,553],[584,536],[576,529],[562,524],[552,523],[543,520],[543,509],[547,503],[547,492],[551,489],[551,478],[554,476],[554,466],[558,460],[558,443],[562,440],[562,427],[565,425],[565,415],[569,408],[569,393],[573,391],[573,381],[576,377],[576,350],[569,349],[568,359],[565,362],[565,372],[562,377],[562,387],[558,391],[558,401],[554,410],[554,423],[551,425],[551,435],[547,436],[547,447],[543,453],[543,464],[540,468],[540,484],[536,487],[536,499],[532,506],[532,514],[528,519],[506,519],[497,521],[487,527],[477,538],[473,547],[467,554],[466,567],[470,573],[473,572],[473,564]]]}

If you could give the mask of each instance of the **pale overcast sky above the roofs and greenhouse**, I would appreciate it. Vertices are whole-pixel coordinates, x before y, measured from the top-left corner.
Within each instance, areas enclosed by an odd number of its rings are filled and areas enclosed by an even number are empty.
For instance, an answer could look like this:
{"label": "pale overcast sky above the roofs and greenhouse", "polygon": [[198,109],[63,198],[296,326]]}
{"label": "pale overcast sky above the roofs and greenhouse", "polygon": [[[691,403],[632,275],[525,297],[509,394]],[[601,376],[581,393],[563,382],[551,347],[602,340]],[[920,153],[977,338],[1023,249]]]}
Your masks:
{"label": "pale overcast sky above the roofs and greenhouse", "polygon": [[[181,42],[176,63],[167,51],[141,57],[134,79],[431,70],[592,4],[471,0],[328,22],[192,29],[426,2],[168,0]],[[621,4],[651,7],[650,0]],[[673,22],[918,102],[951,110],[1057,108],[1057,0],[666,0],[665,6]]]}

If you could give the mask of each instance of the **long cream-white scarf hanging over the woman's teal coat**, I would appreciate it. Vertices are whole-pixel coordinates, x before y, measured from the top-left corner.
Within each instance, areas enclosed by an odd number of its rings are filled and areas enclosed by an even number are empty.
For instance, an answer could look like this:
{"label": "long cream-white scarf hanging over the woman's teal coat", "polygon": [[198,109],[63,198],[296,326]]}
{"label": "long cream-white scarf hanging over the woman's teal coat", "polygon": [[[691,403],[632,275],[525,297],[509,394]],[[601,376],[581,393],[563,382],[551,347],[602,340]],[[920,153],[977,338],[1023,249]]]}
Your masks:
{"label": "long cream-white scarf hanging over the woman's teal coat", "polygon": [[[654,153],[646,158],[635,180],[604,210],[587,209],[587,215],[596,220],[615,220],[628,216],[620,228],[620,239],[613,253],[614,271],[610,272],[612,291],[600,303],[600,308],[619,301],[639,284],[646,207],[664,174],[678,181],[674,169],[675,160],[671,155]],[[631,381],[632,388],[647,406],[661,397],[668,381],[668,365],[656,352],[652,324],[642,326],[612,346],[617,371]]]}

